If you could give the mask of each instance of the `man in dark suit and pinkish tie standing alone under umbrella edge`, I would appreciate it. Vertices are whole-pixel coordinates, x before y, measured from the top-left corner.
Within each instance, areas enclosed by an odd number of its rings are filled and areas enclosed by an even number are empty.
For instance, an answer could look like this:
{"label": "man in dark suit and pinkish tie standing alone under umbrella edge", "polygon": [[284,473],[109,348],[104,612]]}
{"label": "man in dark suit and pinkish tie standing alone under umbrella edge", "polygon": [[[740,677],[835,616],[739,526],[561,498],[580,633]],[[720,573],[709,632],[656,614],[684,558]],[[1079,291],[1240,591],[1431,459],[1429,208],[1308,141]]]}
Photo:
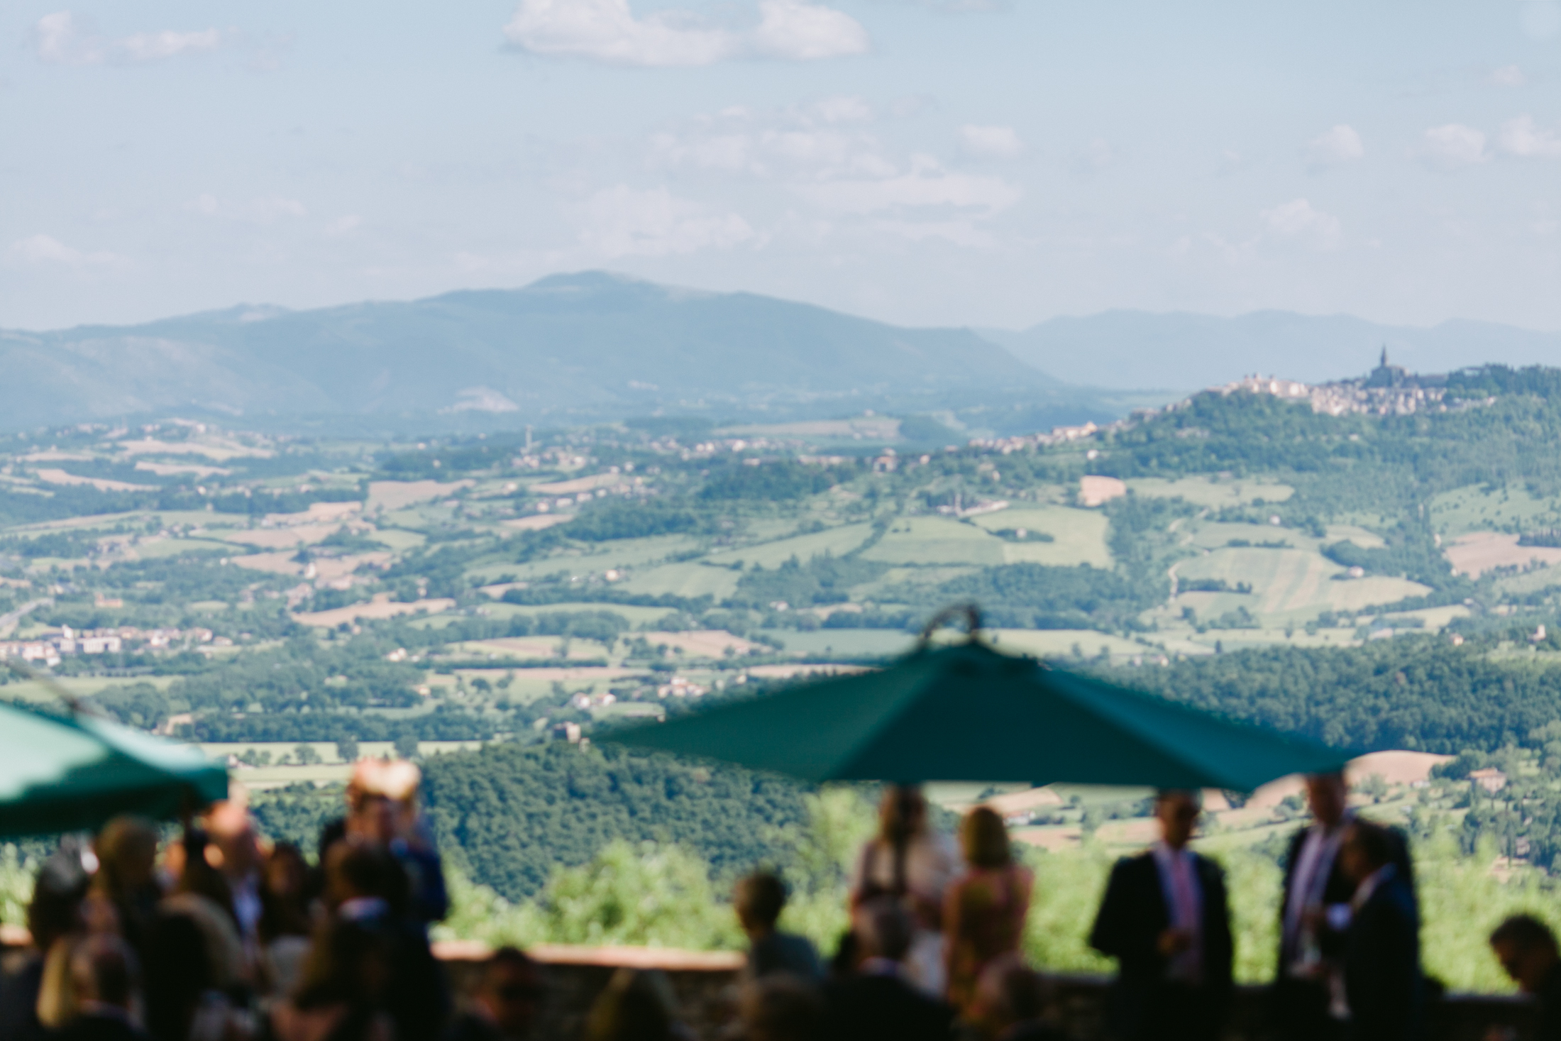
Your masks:
{"label": "man in dark suit and pinkish tie standing alone under umbrella edge", "polygon": [[1111,1019],[1122,1041],[1207,1041],[1230,1007],[1225,876],[1188,849],[1197,793],[1155,798],[1161,840],[1116,862],[1090,946],[1118,960]]}

